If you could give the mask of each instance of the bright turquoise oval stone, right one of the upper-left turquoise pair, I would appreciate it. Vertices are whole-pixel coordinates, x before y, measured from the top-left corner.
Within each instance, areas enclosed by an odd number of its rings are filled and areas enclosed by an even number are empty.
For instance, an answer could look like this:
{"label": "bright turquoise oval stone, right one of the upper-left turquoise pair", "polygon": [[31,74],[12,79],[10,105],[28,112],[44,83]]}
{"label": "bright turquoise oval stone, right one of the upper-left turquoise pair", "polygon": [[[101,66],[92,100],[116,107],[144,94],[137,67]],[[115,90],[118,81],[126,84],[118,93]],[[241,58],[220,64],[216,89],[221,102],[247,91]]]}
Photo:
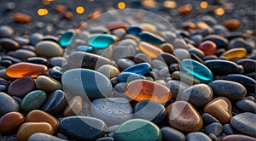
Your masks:
{"label": "bright turquoise oval stone, right one of the upper-left turquoise pair", "polygon": [[107,48],[114,42],[114,37],[108,34],[96,34],[87,38],[87,43],[92,48]]}

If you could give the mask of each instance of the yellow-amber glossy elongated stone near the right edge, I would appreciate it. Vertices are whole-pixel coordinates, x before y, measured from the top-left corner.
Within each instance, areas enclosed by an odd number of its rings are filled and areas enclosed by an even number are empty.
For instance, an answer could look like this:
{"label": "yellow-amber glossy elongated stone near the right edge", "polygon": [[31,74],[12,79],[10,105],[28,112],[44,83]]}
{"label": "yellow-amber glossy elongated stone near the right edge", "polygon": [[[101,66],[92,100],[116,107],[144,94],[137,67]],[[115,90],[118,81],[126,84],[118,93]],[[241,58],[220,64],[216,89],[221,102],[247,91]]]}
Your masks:
{"label": "yellow-amber glossy elongated stone near the right edge", "polygon": [[226,59],[242,59],[247,55],[247,49],[246,48],[232,48],[224,54],[222,54]]}

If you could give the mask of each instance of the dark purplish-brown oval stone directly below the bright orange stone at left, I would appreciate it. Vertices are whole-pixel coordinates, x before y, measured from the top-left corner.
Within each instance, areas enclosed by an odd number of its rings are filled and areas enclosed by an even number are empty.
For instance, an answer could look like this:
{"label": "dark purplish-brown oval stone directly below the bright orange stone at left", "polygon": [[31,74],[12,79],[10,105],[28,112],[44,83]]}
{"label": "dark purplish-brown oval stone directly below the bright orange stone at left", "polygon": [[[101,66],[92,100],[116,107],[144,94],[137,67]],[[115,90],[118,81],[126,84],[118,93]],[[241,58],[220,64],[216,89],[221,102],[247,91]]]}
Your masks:
{"label": "dark purplish-brown oval stone directly below the bright orange stone at left", "polygon": [[27,93],[30,93],[35,89],[36,84],[32,77],[25,76],[11,82],[8,87],[8,93],[11,96],[23,98]]}

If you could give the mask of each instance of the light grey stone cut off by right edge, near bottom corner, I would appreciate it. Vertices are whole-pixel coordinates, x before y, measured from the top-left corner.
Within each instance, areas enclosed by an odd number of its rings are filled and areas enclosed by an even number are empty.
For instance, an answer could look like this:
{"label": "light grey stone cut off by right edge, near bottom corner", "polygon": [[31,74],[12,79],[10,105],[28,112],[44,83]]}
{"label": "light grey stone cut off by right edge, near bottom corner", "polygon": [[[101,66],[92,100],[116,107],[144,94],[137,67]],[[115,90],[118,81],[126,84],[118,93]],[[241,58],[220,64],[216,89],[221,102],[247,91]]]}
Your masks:
{"label": "light grey stone cut off by right edge, near bottom corner", "polygon": [[241,133],[247,134],[256,138],[256,114],[245,112],[233,116],[230,123],[231,126],[236,128]]}

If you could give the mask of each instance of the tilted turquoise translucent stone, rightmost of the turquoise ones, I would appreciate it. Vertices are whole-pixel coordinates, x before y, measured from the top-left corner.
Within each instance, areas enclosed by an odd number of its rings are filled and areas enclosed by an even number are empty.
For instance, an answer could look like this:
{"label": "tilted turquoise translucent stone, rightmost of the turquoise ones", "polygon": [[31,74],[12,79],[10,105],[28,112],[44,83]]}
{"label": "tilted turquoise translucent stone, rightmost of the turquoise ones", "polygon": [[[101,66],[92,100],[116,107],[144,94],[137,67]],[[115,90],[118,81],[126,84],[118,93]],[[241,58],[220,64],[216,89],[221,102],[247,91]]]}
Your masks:
{"label": "tilted turquoise translucent stone, rightmost of the turquoise ones", "polygon": [[210,71],[205,65],[202,65],[193,59],[183,59],[181,67],[183,70],[195,76],[202,83],[212,82],[212,71]]}

